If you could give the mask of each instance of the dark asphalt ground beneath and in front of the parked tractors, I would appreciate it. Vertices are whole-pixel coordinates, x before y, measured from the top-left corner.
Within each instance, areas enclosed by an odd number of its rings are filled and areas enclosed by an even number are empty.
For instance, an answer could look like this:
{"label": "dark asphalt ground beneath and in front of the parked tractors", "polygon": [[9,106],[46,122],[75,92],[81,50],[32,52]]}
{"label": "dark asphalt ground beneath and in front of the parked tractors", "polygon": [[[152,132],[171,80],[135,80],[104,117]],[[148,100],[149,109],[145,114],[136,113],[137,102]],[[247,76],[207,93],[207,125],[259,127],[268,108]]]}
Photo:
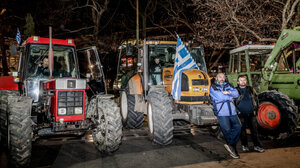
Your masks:
{"label": "dark asphalt ground beneath and in front of the parked tractors", "polygon": [[[31,167],[160,168],[211,162],[219,167],[221,161],[232,160],[224,150],[224,142],[210,136],[203,128],[175,128],[173,143],[168,146],[152,144],[147,132],[146,127],[140,130],[124,129],[120,149],[109,156],[97,151],[89,133],[81,137],[40,138],[33,142]],[[266,149],[299,147],[300,136],[277,142],[263,140],[263,145]],[[0,159],[0,167],[6,167],[5,152],[1,152]]]}

